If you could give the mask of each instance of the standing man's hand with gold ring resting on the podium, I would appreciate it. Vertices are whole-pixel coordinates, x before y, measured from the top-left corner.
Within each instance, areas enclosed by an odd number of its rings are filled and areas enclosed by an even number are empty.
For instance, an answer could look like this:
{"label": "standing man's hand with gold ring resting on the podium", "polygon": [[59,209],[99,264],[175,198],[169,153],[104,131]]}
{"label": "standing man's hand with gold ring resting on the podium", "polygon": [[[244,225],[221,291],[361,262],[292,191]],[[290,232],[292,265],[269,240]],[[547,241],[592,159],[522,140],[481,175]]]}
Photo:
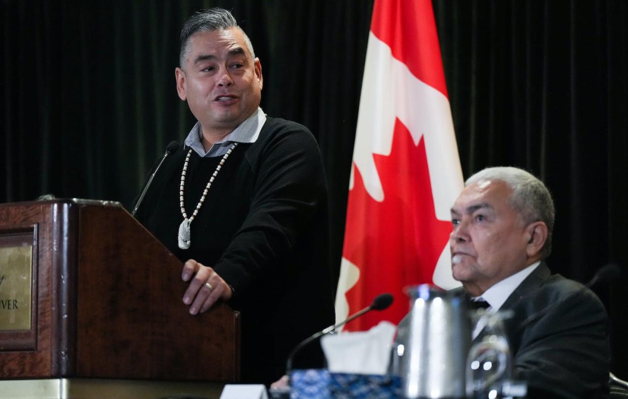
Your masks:
{"label": "standing man's hand with gold ring resting on the podium", "polygon": [[214,269],[203,266],[195,260],[188,260],[181,273],[183,281],[190,286],[183,294],[183,303],[190,305],[190,314],[207,312],[217,300],[229,300],[233,292],[229,284]]}

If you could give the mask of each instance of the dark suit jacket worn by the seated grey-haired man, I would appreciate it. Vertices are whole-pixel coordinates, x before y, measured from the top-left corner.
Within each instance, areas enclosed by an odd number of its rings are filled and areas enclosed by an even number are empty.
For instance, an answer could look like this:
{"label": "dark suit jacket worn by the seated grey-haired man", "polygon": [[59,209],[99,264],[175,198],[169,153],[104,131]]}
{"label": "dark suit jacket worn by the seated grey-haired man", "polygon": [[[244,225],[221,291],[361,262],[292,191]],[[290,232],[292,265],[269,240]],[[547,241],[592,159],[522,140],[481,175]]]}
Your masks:
{"label": "dark suit jacket worn by the seated grey-haired man", "polygon": [[[607,314],[588,288],[575,294],[582,288],[576,281],[551,275],[542,262],[500,309],[514,311],[504,324],[516,378],[528,382],[529,398],[608,397]],[[555,307],[543,316],[521,325],[553,303]]]}

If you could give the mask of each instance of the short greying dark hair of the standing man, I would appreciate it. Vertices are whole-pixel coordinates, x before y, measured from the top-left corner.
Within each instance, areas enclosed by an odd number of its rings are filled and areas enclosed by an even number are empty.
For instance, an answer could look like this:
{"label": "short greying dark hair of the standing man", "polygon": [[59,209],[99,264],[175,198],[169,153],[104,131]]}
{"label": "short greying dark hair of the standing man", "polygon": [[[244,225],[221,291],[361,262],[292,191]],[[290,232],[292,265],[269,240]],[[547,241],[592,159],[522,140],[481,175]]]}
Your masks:
{"label": "short greying dark hair of the standing man", "polygon": [[236,18],[224,8],[214,7],[203,9],[192,14],[190,18],[183,24],[181,29],[181,49],[179,51],[179,67],[182,69],[185,65],[185,58],[188,56],[190,48],[188,43],[190,42],[190,36],[197,32],[207,32],[215,30],[223,30],[230,28],[238,28],[242,35],[244,35],[244,41],[247,48],[251,53],[251,58],[255,59],[255,52],[253,51],[253,45],[249,36],[244,33],[244,30],[237,25]]}

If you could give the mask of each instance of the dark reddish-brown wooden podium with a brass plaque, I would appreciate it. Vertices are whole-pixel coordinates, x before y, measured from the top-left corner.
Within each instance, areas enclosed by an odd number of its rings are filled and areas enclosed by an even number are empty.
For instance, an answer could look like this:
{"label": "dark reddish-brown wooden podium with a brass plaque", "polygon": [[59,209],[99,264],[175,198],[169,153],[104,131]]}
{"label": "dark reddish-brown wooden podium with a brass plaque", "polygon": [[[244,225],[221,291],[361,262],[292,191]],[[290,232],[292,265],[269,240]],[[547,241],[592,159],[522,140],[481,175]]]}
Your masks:
{"label": "dark reddish-brown wooden podium with a brass plaque", "polygon": [[119,203],[0,204],[0,254],[0,380],[239,380],[239,313],[188,314],[182,263]]}

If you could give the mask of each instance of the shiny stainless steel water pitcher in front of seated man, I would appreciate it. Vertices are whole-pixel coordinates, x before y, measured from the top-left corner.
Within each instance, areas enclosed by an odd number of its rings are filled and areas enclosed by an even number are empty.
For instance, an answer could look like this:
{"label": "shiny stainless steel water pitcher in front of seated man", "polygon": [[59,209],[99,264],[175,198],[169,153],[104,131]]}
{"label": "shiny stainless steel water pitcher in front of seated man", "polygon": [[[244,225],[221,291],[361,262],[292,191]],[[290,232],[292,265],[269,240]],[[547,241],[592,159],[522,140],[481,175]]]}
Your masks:
{"label": "shiny stainless steel water pitcher in front of seated man", "polygon": [[406,398],[464,398],[471,345],[462,290],[428,284],[406,288],[410,312],[399,323],[391,372],[404,381]]}

